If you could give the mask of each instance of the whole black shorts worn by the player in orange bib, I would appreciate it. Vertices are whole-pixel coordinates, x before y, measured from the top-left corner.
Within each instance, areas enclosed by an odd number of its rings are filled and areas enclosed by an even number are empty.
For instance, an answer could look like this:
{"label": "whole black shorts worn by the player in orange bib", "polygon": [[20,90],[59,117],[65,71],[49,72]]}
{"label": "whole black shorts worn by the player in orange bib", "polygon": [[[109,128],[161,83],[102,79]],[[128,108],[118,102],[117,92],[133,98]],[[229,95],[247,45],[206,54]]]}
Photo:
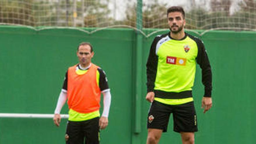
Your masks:
{"label": "whole black shorts worn by the player in orange bib", "polygon": [[66,144],[99,144],[99,117],[85,121],[68,121]]}

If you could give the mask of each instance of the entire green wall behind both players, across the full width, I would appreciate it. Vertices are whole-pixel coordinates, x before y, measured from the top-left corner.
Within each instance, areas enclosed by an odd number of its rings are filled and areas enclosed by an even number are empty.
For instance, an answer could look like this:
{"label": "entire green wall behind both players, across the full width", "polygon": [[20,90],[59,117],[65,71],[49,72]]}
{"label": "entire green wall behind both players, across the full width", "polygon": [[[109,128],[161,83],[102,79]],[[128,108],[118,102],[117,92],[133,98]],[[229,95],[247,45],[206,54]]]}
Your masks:
{"label": "entire green wall behind both players, across the full width", "polygon": [[[89,29],[88,29],[89,30]],[[150,30],[148,30],[150,31]],[[167,32],[167,31],[166,31]],[[161,32],[164,33],[164,32]],[[111,88],[109,126],[101,132],[103,144],[146,143],[146,61],[156,33],[143,38],[141,133],[134,134],[136,32],[105,29],[87,34],[73,29],[34,31],[0,26],[0,113],[53,113],[65,71],[77,63],[76,49],[91,42],[93,63],[102,67]],[[203,114],[204,87],[197,67],[193,96],[198,114],[196,143],[253,143],[255,121],[255,32],[210,31],[200,37],[213,72],[213,107]],[[102,110],[102,109],[101,109]],[[62,113],[67,113],[65,105]],[[59,128],[51,119],[0,118],[0,143],[64,143],[66,119]],[[172,117],[160,144],[181,143],[173,132]]]}

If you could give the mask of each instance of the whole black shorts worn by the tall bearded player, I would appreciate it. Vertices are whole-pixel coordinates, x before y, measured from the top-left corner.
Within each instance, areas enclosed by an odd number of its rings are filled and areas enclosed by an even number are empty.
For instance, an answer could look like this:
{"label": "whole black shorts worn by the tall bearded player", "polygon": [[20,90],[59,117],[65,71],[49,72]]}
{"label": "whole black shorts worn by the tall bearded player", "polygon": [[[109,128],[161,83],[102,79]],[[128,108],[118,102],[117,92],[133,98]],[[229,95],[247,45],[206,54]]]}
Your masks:
{"label": "whole black shorts worn by the tall bearded player", "polygon": [[162,129],[166,132],[171,113],[173,113],[173,131],[198,131],[194,102],[168,105],[153,101],[148,113],[147,128]]}

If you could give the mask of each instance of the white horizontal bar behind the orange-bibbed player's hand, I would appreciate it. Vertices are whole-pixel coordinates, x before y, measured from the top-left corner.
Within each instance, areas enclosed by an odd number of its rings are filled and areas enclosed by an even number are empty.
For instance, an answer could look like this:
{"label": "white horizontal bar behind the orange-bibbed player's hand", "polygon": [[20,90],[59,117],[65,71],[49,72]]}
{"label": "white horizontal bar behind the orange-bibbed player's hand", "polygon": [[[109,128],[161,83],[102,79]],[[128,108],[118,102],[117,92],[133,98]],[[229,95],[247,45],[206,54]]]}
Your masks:
{"label": "white horizontal bar behind the orange-bibbed player's hand", "polygon": [[[54,114],[39,113],[0,113],[0,118],[53,118]],[[68,115],[61,115],[61,118],[68,118]]]}

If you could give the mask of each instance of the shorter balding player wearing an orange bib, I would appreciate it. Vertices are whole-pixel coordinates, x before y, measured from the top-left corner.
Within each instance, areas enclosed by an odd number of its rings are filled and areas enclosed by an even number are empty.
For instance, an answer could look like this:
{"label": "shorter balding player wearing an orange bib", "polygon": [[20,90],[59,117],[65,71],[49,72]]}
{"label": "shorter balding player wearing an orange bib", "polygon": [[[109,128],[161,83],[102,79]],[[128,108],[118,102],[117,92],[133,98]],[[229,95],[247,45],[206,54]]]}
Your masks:
{"label": "shorter balding player wearing an orange bib", "polygon": [[[60,112],[67,100],[69,118],[65,134],[66,144],[99,144],[99,129],[108,125],[111,102],[110,89],[105,72],[91,63],[94,52],[88,42],[77,48],[79,64],[69,67],[54,112],[54,123],[60,125]],[[104,96],[100,117],[100,95]],[[100,117],[100,118],[99,118]]]}

